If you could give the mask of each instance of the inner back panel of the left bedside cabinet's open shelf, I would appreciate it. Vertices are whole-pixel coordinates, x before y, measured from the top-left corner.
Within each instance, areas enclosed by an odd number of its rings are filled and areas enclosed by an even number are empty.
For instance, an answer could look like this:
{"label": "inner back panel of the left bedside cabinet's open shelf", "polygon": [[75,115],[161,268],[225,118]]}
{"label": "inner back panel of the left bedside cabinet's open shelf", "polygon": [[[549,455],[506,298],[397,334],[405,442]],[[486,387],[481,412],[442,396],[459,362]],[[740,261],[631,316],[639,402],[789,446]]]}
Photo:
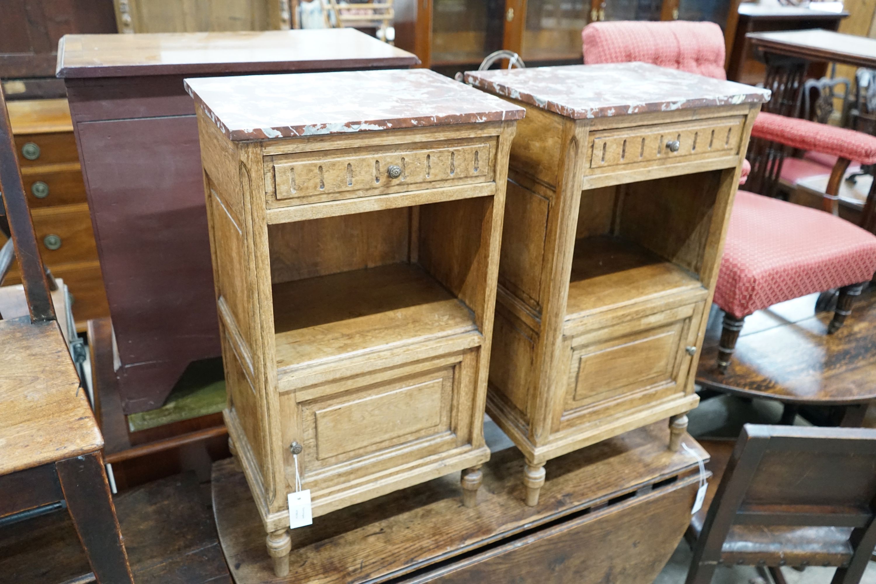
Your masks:
{"label": "inner back panel of the left bedside cabinet's open shelf", "polygon": [[268,226],[273,284],[406,262],[406,208]]}

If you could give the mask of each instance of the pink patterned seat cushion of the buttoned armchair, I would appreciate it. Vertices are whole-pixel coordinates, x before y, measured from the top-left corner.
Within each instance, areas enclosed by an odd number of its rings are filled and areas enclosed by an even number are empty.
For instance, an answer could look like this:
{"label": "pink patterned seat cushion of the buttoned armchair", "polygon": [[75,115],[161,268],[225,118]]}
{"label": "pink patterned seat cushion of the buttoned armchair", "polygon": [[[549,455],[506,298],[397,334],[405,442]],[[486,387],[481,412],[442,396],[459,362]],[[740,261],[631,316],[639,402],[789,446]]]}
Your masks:
{"label": "pink patterned seat cushion of the buttoned armchair", "polygon": [[865,282],[876,236],[817,209],[738,191],[715,304],[736,318],[813,292]]}

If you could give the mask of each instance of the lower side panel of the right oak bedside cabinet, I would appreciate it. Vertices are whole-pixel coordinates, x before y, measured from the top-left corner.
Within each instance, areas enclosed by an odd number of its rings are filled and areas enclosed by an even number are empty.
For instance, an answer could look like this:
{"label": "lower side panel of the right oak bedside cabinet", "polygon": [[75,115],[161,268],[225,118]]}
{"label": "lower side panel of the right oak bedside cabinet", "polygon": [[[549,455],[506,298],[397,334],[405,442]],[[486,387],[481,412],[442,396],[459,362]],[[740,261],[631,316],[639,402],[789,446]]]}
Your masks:
{"label": "lower side panel of the right oak bedside cabinet", "polygon": [[532,386],[535,332],[511,313],[499,309],[493,328],[490,355],[490,385],[528,420],[529,391]]}

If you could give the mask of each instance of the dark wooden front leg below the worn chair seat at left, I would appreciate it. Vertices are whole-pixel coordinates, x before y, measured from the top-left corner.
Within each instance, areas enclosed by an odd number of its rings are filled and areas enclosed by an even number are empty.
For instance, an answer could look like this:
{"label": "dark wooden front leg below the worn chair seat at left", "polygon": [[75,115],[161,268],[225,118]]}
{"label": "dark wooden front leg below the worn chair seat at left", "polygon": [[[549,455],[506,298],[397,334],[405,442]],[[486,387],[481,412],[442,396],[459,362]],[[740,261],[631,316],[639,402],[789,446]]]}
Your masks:
{"label": "dark wooden front leg below the worn chair seat at left", "polygon": [[107,584],[133,584],[101,454],[55,462],[55,470],[95,579]]}

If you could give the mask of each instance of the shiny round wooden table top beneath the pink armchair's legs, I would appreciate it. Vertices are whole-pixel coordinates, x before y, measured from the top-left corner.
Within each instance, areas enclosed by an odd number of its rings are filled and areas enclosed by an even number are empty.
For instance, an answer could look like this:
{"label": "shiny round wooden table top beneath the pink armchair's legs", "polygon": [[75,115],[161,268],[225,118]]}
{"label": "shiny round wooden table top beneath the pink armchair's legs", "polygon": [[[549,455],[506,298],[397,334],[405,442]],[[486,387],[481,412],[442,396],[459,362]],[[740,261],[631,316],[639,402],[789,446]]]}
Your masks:
{"label": "shiny round wooden table top beneath the pink armchair's legs", "polygon": [[789,300],[745,319],[727,373],[717,371],[723,313],[712,307],[696,381],[705,388],[786,402],[849,405],[876,398],[876,290],[852,307],[836,334],[833,313],[815,313],[817,294]]}

